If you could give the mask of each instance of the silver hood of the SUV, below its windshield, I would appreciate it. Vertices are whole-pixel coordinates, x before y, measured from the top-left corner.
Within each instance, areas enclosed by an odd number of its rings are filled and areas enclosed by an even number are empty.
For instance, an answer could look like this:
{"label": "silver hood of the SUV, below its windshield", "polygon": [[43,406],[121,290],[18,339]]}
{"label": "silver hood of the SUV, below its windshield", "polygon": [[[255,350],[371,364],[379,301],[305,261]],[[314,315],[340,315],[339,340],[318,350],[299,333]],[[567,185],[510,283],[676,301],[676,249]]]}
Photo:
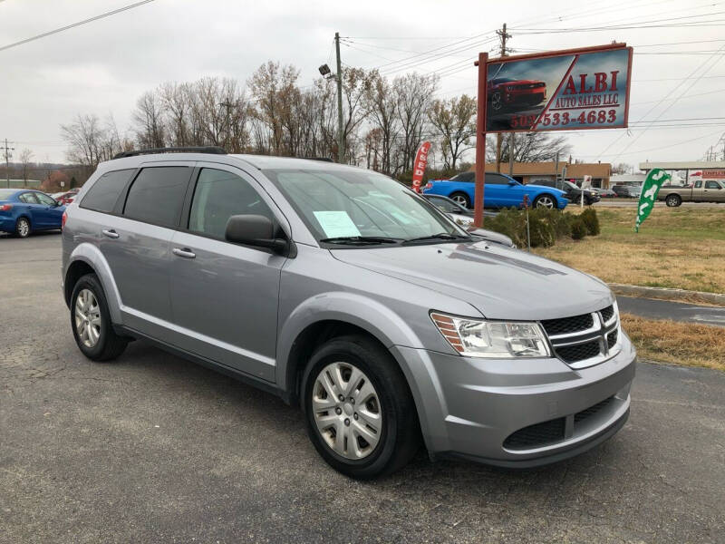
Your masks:
{"label": "silver hood of the SUV, below its windshield", "polygon": [[330,252],[345,263],[468,302],[489,319],[577,316],[614,301],[609,287],[594,277],[498,244],[447,243]]}

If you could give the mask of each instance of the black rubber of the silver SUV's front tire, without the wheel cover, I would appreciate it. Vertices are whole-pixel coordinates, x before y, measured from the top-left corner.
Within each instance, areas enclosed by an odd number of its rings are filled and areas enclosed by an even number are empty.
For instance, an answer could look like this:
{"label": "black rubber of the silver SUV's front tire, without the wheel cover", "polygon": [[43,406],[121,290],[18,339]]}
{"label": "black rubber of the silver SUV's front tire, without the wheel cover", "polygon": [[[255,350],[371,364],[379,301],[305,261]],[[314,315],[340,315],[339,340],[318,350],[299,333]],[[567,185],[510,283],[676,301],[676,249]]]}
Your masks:
{"label": "black rubber of the silver SUV's front tire, without the wheel cover", "polygon": [[[324,441],[314,421],[314,383],[327,364],[349,363],[370,378],[378,393],[382,430],[375,449],[360,460],[346,459]],[[363,335],[333,338],[310,358],[302,382],[302,406],[307,432],[315,449],[336,471],[358,480],[370,480],[397,471],[420,446],[420,424],[411,390],[400,367],[381,345]]]}

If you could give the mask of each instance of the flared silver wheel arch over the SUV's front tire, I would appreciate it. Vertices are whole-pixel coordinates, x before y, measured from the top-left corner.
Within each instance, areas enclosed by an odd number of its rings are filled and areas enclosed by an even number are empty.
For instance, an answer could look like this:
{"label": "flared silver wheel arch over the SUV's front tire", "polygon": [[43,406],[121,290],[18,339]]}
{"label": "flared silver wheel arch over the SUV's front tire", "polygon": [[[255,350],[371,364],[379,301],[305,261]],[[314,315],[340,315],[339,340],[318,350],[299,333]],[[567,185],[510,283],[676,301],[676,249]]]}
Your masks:
{"label": "flared silver wheel arch over the SUV's front tire", "polygon": [[359,326],[375,336],[388,349],[393,345],[423,346],[411,327],[390,307],[355,293],[335,291],[311,296],[297,306],[289,316],[286,318],[281,316],[280,321],[284,321],[284,328],[277,335],[275,381],[283,391],[294,385],[288,383],[290,376],[287,373],[287,365],[295,339],[305,328],[314,323],[343,321]]}

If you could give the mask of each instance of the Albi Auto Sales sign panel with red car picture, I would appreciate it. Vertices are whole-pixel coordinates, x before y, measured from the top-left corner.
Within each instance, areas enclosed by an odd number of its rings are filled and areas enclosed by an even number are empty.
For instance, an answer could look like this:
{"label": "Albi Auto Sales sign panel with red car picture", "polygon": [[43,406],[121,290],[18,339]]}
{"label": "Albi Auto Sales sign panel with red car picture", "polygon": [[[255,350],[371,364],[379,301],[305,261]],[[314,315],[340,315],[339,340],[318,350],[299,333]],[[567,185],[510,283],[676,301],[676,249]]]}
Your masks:
{"label": "Albi Auto Sales sign panel with red car picture", "polygon": [[487,132],[627,126],[632,48],[624,44],[499,58],[487,68]]}

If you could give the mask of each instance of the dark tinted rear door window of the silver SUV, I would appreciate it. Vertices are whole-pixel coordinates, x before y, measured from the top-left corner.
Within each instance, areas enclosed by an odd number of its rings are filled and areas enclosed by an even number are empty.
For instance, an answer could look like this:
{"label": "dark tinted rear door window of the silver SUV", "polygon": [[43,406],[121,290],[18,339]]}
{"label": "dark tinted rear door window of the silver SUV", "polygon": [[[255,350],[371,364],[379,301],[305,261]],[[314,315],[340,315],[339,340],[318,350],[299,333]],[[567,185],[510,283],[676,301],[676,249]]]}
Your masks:
{"label": "dark tinted rear door window of the silver SUV", "polygon": [[186,166],[141,170],[131,184],[123,215],[161,227],[177,227],[191,170]]}

